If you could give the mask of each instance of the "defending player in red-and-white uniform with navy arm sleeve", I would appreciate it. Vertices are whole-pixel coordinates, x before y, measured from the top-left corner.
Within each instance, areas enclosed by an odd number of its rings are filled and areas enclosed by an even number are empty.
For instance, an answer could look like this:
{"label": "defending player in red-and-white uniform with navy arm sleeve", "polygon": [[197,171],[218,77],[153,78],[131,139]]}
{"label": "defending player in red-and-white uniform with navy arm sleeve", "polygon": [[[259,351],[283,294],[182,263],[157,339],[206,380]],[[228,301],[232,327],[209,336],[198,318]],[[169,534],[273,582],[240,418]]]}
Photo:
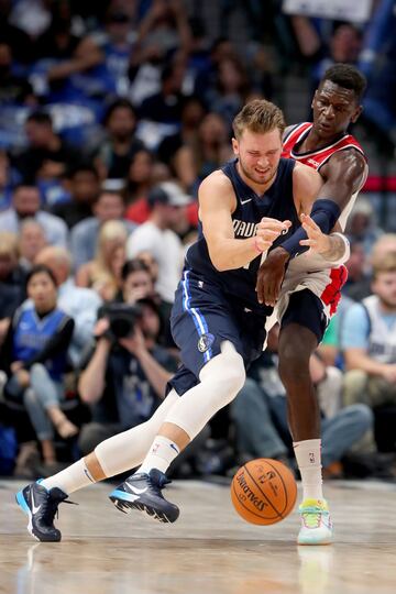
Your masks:
{"label": "defending player in red-and-white uniform with navy arm sleeve", "polygon": [[[346,280],[345,267],[334,267],[326,234],[344,230],[367,176],[363,150],[346,131],[362,111],[364,89],[365,79],[356,68],[332,66],[315,92],[314,122],[286,129],[283,156],[315,168],[324,184],[310,217],[301,215],[299,233],[271,251],[257,274],[258,301],[276,305],[280,324],[279,374],[287,392],[289,427],[304,488],[298,536],[304,544],[328,543],[332,538],[322,493],[320,415],[309,360]],[[341,234],[340,241],[345,241]],[[302,254],[309,246],[315,246],[315,253]]]}

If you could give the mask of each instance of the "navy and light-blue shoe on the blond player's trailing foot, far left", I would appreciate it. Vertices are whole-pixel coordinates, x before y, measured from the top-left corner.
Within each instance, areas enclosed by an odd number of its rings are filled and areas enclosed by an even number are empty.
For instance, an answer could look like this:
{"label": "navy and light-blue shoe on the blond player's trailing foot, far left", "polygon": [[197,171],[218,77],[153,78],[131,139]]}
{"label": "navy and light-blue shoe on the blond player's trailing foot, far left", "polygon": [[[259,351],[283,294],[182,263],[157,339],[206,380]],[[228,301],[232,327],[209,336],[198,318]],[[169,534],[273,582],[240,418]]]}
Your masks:
{"label": "navy and light-blue shoe on the blond player's trailing foot, far left", "polygon": [[54,517],[59,503],[65,502],[67,497],[68,495],[61,488],[54,487],[47,491],[38,481],[16,493],[18,505],[29,516],[28,531],[34,538],[42,542],[58,542],[61,540],[62,535],[54,526]]}

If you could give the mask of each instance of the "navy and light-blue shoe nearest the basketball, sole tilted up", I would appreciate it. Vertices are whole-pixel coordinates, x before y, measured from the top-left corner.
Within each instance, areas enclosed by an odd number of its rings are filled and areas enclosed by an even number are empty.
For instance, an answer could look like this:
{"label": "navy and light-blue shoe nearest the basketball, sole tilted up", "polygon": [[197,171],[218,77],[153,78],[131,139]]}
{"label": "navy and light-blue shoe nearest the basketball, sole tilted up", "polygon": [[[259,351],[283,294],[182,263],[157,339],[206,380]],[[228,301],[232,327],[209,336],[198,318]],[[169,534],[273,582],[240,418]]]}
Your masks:
{"label": "navy and light-blue shoe nearest the basketball, sole tilted up", "polygon": [[162,490],[170,482],[163,472],[152,469],[148,474],[131,474],[109,497],[117,509],[124,514],[139,509],[156,520],[173,522],[178,518],[179,508],[167,502],[162,494]]}

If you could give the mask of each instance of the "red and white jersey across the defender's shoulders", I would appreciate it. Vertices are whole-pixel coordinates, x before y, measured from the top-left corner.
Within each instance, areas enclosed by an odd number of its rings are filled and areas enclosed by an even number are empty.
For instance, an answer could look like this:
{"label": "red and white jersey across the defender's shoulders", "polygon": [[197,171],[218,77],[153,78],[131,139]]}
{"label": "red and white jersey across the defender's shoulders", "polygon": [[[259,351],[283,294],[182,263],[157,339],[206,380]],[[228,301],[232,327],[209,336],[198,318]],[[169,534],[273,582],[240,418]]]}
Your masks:
{"label": "red and white jersey across the defender's shoulders", "polygon": [[304,163],[305,165],[308,165],[309,167],[312,167],[317,170],[319,170],[320,167],[324,165],[327,161],[329,161],[331,155],[333,155],[338,151],[355,148],[356,151],[362,153],[362,155],[366,160],[364,151],[356,141],[356,139],[354,139],[351,134],[346,133],[338,141],[332,142],[328,146],[323,146],[318,151],[309,151],[307,153],[296,154],[294,152],[294,147],[308,135],[311,128],[311,122],[302,122],[293,128],[293,130],[290,130],[290,132],[284,140],[282,156],[285,158],[294,158],[295,161]]}

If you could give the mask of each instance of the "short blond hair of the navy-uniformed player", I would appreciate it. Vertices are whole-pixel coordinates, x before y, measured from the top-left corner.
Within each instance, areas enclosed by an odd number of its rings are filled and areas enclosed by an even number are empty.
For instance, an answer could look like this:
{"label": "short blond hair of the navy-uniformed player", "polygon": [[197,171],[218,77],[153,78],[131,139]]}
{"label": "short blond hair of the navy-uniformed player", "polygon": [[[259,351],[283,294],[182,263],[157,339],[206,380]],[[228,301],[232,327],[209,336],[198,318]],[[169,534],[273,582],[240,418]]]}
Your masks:
{"label": "short blond hair of the navy-uniformed player", "polygon": [[282,109],[265,99],[254,99],[246,103],[232,122],[237,140],[240,140],[244,130],[264,134],[278,129],[280,135],[283,135],[285,128],[286,123]]}

